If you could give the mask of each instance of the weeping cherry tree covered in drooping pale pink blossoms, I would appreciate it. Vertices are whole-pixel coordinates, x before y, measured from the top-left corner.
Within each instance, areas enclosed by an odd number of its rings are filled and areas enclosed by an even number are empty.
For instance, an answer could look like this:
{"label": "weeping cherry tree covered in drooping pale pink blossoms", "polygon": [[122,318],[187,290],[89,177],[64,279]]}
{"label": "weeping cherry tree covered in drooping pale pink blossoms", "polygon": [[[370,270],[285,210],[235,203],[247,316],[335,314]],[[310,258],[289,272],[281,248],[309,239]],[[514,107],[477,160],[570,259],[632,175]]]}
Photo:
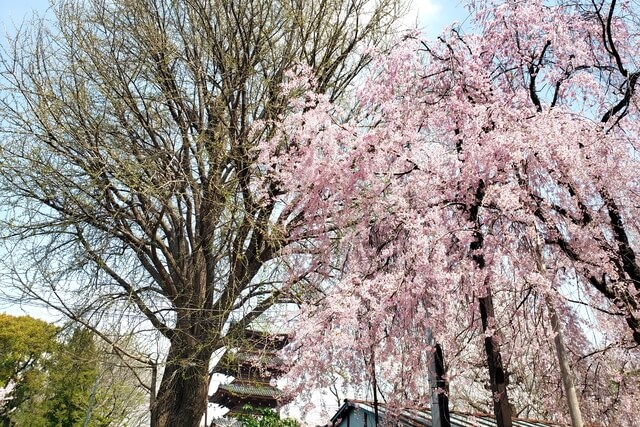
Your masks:
{"label": "weeping cherry tree covered in drooping pale pink blossoms", "polygon": [[[466,393],[499,425],[566,421],[561,332],[585,419],[628,424],[639,392],[640,8],[468,7],[468,34],[408,34],[378,52],[356,113],[315,93],[304,71],[285,85],[298,114],[263,162],[285,214],[304,218],[288,231],[318,236],[291,268],[341,272],[317,276],[325,292],[305,300],[292,378],[375,373],[387,401],[423,405],[433,334],[454,405]],[[474,389],[486,365],[488,396]]]}

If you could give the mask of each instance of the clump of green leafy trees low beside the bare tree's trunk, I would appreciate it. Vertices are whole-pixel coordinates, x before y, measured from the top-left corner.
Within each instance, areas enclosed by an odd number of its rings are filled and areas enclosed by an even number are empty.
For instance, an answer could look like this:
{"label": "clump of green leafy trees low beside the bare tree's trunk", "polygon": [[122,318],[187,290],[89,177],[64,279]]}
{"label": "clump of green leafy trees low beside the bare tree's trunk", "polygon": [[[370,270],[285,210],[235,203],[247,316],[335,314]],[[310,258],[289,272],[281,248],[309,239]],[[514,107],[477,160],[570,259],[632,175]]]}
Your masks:
{"label": "clump of green leafy trees low beside the bare tree's trunk", "polygon": [[0,314],[0,422],[87,427],[140,421],[144,391],[91,331]]}

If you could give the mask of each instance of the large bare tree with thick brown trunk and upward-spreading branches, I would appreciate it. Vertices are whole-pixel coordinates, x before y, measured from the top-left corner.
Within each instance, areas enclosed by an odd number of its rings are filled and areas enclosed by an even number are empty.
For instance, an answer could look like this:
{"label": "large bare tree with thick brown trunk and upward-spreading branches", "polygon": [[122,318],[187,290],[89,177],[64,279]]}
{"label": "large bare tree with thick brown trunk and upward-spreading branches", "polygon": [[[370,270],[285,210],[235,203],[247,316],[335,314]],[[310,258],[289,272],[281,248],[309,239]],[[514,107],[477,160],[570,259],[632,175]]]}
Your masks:
{"label": "large bare tree with thick brown trunk and upward-spreading branches", "polygon": [[4,52],[10,277],[96,331],[116,315],[168,340],[152,425],[198,425],[212,353],[288,298],[269,273],[295,218],[255,150],[287,113],[287,70],[310,66],[342,96],[368,62],[359,48],[399,12],[396,0],[68,0]]}

